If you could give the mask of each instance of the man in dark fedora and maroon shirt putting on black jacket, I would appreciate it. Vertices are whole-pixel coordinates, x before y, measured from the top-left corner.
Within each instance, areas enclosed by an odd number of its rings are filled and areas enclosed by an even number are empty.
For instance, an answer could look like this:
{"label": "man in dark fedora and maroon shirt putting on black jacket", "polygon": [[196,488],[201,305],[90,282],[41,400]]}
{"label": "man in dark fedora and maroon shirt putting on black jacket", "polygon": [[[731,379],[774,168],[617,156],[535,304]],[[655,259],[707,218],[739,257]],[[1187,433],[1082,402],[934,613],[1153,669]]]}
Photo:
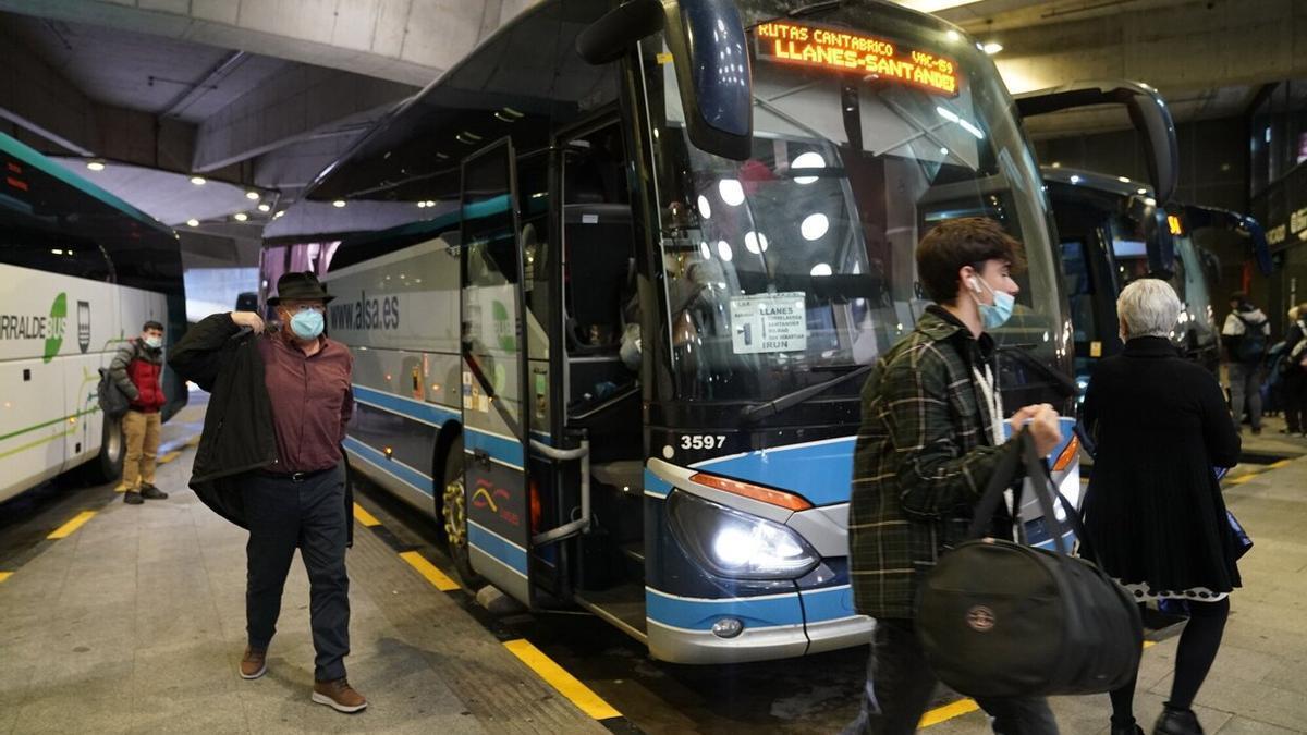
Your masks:
{"label": "man in dark fedora and maroon shirt putting on black jacket", "polygon": [[349,654],[350,514],[341,441],[353,413],[353,357],[323,335],[332,296],[312,273],[277,280],[280,330],[252,311],[214,314],[192,327],[169,364],[210,391],[191,487],[250,530],[246,544],[243,679],[267,672],[268,646],[295,549],[308,573],[312,701],[337,711],[367,706],[345,679]]}

